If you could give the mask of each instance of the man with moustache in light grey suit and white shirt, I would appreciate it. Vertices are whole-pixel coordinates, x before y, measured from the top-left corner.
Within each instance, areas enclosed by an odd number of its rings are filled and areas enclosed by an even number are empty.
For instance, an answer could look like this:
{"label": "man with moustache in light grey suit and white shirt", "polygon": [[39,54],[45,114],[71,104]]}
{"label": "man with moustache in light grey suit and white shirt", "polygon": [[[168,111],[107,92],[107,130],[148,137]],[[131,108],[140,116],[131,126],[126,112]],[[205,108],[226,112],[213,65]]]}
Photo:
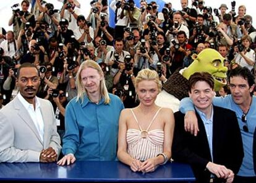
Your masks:
{"label": "man with moustache in light grey suit and white shirt", "polygon": [[17,72],[18,95],[0,111],[0,162],[53,162],[61,151],[53,106],[36,97],[40,74],[24,63]]}

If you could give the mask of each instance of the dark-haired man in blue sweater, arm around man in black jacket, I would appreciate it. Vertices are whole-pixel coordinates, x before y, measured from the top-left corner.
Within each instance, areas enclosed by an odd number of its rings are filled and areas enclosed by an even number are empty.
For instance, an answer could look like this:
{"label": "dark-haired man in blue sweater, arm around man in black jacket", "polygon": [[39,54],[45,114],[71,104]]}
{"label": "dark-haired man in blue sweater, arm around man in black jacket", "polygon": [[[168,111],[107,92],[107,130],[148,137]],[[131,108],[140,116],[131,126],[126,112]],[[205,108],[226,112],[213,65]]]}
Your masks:
{"label": "dark-haired man in blue sweater, arm around man in black jacket", "polygon": [[[231,95],[224,98],[215,97],[213,99],[213,104],[216,104],[216,106],[222,106],[236,112],[241,130],[244,145],[244,160],[234,182],[256,182],[254,171],[255,156],[253,155],[253,143],[255,143],[254,132],[256,127],[256,98],[252,96],[254,87],[254,75],[250,70],[246,67],[237,67],[229,73],[229,89]],[[180,110],[182,113],[194,111],[194,107],[189,103],[191,102],[187,98],[181,101]],[[198,131],[197,119],[194,112],[189,112],[189,114],[186,114],[186,129],[196,135]]]}

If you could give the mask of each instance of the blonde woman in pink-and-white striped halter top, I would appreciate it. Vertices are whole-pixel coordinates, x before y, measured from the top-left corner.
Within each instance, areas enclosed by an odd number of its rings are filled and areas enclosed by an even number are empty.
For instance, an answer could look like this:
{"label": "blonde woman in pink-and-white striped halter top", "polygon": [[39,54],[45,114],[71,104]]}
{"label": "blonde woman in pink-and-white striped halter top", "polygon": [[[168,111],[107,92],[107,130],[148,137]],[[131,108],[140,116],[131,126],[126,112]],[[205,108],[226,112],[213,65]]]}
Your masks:
{"label": "blonde woman in pink-and-white striped halter top", "polygon": [[161,88],[155,70],[140,70],[135,88],[140,104],[121,112],[117,158],[134,172],[151,172],[171,158],[174,116],[155,104]]}

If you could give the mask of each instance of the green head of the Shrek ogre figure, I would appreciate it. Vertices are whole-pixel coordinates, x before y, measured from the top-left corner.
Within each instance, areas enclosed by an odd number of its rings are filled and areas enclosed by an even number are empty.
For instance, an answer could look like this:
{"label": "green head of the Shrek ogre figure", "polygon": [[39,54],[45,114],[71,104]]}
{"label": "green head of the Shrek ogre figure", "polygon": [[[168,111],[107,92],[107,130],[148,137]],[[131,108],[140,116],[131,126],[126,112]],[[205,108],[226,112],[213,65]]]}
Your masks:
{"label": "green head of the Shrek ogre figure", "polygon": [[221,87],[227,84],[226,72],[228,68],[224,67],[225,59],[218,51],[211,48],[203,49],[198,55],[194,54],[192,58],[194,61],[182,73],[186,79],[189,79],[190,75],[195,72],[208,72],[214,78],[215,91],[219,91]]}

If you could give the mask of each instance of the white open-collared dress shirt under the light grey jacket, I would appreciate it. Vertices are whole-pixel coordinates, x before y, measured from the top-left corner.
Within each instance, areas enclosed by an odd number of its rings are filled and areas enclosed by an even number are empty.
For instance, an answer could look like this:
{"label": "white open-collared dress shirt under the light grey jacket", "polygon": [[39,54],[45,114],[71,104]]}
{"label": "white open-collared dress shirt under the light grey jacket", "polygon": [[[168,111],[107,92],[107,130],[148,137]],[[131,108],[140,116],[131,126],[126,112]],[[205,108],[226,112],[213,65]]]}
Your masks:
{"label": "white open-collared dress shirt under the light grey jacket", "polygon": [[45,124],[43,122],[43,116],[40,111],[40,102],[38,98],[35,96],[35,109],[34,109],[33,104],[28,103],[28,101],[25,100],[25,98],[23,98],[22,95],[20,95],[20,92],[18,93],[17,97],[19,98],[20,103],[22,103],[25,109],[27,109],[28,114],[31,117],[32,121],[34,122],[35,127],[38,130],[40,138],[43,142]]}

